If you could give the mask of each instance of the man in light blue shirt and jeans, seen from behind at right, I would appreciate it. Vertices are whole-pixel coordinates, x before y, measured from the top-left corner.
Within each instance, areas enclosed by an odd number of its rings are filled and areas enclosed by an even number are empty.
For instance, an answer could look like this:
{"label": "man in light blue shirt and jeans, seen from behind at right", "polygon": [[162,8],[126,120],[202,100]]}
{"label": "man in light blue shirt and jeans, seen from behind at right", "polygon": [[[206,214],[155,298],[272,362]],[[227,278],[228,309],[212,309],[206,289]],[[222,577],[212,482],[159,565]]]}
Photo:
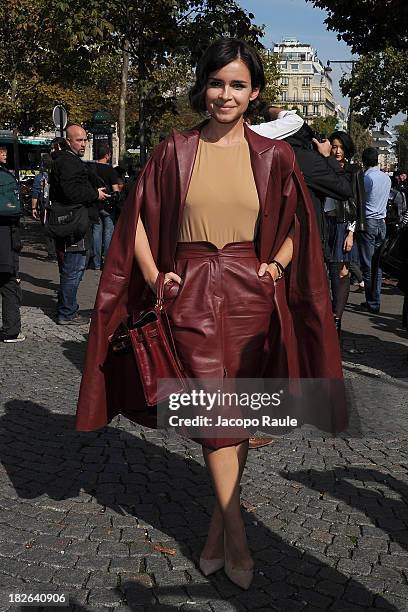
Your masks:
{"label": "man in light blue shirt and jeans, seen from behind at right", "polygon": [[[380,312],[382,272],[380,249],[386,235],[385,217],[390,196],[391,179],[378,166],[378,151],[367,147],[362,154],[365,167],[366,227],[357,234],[366,301],[360,304],[365,312]],[[372,273],[373,272],[373,273]]]}

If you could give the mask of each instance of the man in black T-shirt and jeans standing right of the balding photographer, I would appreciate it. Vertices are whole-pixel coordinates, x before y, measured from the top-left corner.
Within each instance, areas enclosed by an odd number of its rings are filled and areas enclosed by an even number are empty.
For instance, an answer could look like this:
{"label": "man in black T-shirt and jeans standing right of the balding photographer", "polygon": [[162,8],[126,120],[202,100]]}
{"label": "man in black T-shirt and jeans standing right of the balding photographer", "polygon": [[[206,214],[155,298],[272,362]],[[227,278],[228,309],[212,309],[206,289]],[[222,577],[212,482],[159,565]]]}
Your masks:
{"label": "man in black T-shirt and jeans standing right of the balding photographer", "polygon": [[117,217],[117,205],[120,199],[119,176],[110,165],[111,152],[107,145],[100,145],[96,151],[97,162],[90,164],[99,181],[98,187],[104,187],[111,197],[100,205],[99,221],[92,228],[94,270],[102,269],[102,254],[105,258]]}

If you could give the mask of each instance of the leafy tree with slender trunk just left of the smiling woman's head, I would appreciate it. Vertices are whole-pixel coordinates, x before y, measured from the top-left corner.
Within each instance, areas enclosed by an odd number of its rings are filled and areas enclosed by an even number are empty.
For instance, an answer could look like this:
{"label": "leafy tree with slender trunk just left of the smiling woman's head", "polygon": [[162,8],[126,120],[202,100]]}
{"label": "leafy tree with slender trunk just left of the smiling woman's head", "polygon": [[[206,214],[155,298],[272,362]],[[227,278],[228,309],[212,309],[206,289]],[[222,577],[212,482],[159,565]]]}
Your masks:
{"label": "leafy tree with slender trunk just left of the smiling woman's head", "polygon": [[[129,45],[129,65],[137,89],[138,140],[141,161],[151,144],[150,111],[175,109],[175,101],[165,97],[160,83],[154,82],[157,68],[171,58],[184,55],[191,65],[209,42],[222,35],[245,38],[260,46],[262,29],[252,23],[253,15],[233,0],[55,0],[59,21],[68,23],[71,37],[91,44],[103,40],[112,51],[122,54]],[[133,95],[134,92],[130,93]],[[122,104],[124,96],[122,89]],[[122,109],[123,113],[123,109]]]}

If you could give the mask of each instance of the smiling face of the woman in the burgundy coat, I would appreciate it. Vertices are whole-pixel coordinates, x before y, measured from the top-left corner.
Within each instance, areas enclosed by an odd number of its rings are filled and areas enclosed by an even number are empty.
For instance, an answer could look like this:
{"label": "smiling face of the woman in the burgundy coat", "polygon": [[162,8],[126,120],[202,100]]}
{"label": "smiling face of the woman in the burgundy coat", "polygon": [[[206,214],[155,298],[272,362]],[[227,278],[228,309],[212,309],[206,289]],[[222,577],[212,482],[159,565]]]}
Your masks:
{"label": "smiling face of the woman in the burgundy coat", "polygon": [[259,95],[252,88],[251,73],[239,59],[211,72],[207,81],[207,111],[219,123],[232,123],[242,117],[251,100]]}

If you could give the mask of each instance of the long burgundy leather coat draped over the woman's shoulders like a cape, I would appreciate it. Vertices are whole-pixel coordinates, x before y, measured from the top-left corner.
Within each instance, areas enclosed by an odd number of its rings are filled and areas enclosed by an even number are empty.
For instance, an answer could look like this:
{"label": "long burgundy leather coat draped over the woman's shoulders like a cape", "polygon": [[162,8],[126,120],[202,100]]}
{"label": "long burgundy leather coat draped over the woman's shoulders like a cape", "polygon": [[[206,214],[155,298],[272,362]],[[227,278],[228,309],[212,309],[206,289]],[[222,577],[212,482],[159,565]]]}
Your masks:
{"label": "long burgundy leather coat draped over the woman's shoulders like a cape", "polygon": [[[245,126],[260,202],[257,253],[273,259],[294,224],[294,254],[276,283],[266,376],[343,379],[319,232],[309,193],[291,147]],[[96,298],[78,401],[76,427],[92,431],[118,413],[155,426],[140,381],[109,350],[108,337],[141,305],[146,283],[134,258],[139,214],[159,270],[173,269],[178,230],[199,141],[199,129],[173,134],[155,149],[138,177],[115,228]],[[250,309],[250,304],[248,304]],[[116,361],[115,361],[116,360]],[[333,430],[347,423],[335,402]]]}

